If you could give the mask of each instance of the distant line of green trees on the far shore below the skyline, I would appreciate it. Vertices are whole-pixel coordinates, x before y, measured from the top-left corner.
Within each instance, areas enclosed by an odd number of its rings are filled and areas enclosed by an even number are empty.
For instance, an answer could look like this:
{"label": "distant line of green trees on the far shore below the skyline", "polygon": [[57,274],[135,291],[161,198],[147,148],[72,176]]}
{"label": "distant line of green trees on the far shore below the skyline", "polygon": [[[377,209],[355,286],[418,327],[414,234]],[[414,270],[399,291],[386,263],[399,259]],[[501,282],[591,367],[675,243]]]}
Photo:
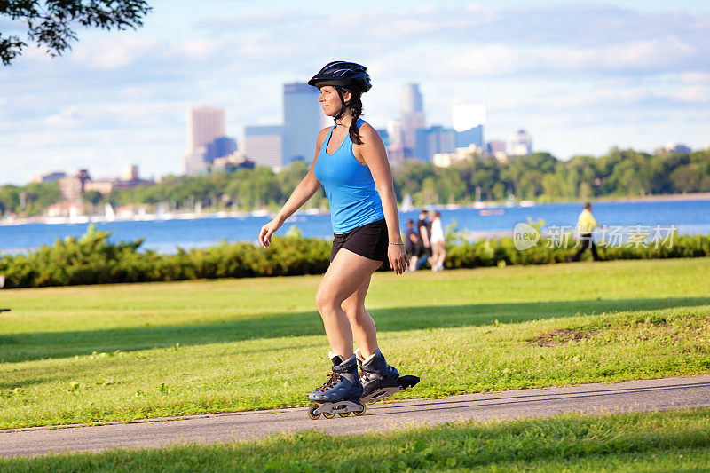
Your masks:
{"label": "distant line of green trees on the far shore below the skyline", "polygon": [[[308,171],[305,162],[293,162],[279,173],[272,169],[238,169],[204,177],[168,176],[157,185],[116,190],[107,195],[85,193],[84,200],[101,209],[114,206],[162,203],[169,210],[278,209]],[[449,168],[409,160],[392,169],[395,193],[406,194],[415,206],[470,203],[477,199],[576,201],[600,197],[636,197],[649,194],[710,192],[710,149],[690,154],[641,153],[612,148],[600,157],[575,156],[561,161],[549,153],[534,153],[509,162],[471,154]],[[38,215],[61,201],[59,186],[51,183],[0,187],[0,215]],[[307,204],[327,209],[322,189]]]}

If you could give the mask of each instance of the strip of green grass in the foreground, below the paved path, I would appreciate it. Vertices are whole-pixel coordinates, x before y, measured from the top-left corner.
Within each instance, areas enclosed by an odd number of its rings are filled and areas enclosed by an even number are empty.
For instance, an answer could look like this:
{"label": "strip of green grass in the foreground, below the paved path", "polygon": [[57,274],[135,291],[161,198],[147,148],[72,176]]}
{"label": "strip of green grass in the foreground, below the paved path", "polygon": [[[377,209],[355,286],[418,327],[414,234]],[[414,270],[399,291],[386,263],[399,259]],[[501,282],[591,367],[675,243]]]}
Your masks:
{"label": "strip of green grass in the foreground, below the paved path", "polygon": [[316,430],[256,441],[0,459],[0,471],[707,471],[710,409],[454,422],[348,437]]}

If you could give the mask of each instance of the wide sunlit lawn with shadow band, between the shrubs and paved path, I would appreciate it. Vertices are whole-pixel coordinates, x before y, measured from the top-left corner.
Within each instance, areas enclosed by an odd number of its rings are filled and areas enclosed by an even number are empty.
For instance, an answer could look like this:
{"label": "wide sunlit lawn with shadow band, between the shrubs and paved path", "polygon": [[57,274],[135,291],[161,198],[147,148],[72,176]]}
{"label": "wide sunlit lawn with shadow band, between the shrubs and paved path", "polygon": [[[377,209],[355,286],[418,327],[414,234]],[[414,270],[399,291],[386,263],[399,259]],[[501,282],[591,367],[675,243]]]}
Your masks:
{"label": "wide sunlit lawn with shadow band, between the shrubs and paved path", "polygon": [[[376,273],[367,307],[390,363],[422,376],[406,397],[698,374],[708,273],[706,258]],[[318,283],[2,291],[0,428],[305,406],[328,369]]]}

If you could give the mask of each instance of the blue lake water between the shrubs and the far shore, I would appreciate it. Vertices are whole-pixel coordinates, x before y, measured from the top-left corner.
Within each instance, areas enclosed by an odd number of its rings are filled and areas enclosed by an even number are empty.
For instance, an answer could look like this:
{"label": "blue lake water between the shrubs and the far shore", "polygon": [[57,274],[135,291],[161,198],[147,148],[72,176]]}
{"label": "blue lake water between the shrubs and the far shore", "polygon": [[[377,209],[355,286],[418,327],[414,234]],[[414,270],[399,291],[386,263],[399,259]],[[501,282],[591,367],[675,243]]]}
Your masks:
{"label": "blue lake water between the shrubs and the far shore", "polygon": [[[606,202],[593,204],[592,213],[599,225],[661,225],[678,227],[678,233],[710,234],[710,201]],[[442,222],[453,219],[460,230],[471,232],[512,232],[519,222],[543,219],[550,225],[575,225],[580,214],[579,203],[541,204],[534,207],[500,207],[502,215],[483,216],[472,208],[439,209]],[[400,212],[399,222],[416,220],[418,210]],[[262,225],[271,217],[206,217],[195,220],[117,221],[95,224],[99,230],[112,232],[110,240],[124,241],[145,238],[143,247],[163,253],[180,248],[204,248],[220,241],[250,241],[256,243]],[[0,225],[0,251],[17,253],[41,245],[51,245],[57,238],[81,236],[89,224],[26,224]],[[296,214],[276,233],[284,235],[296,225],[306,237],[333,238],[329,215]],[[404,232],[403,232],[404,233]]]}

